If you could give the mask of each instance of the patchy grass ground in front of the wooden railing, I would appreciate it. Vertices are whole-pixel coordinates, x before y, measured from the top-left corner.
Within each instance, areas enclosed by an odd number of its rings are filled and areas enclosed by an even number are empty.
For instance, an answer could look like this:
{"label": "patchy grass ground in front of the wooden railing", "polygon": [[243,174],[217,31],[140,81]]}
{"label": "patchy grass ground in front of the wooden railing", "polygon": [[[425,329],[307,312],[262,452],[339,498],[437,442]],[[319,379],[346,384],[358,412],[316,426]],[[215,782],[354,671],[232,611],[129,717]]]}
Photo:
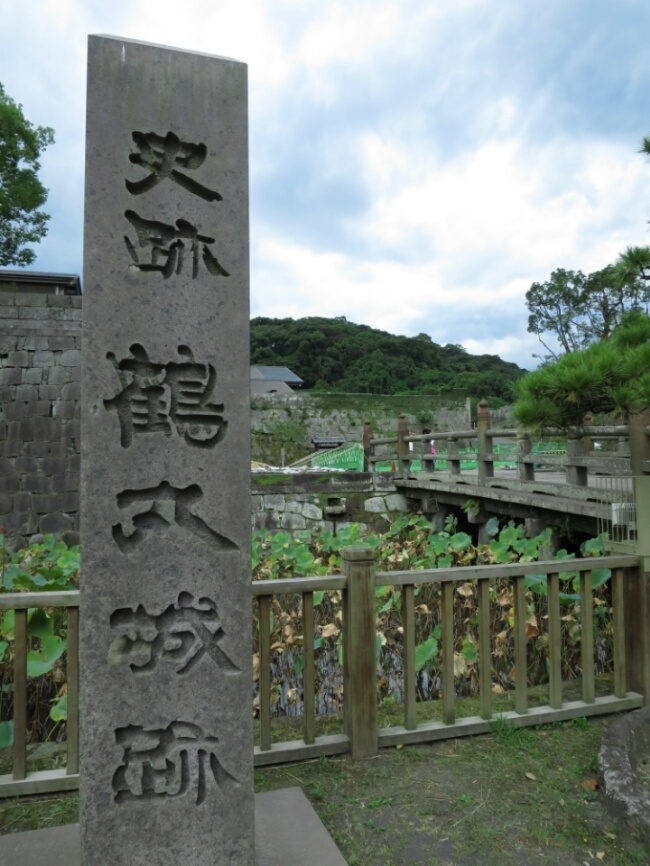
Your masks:
{"label": "patchy grass ground in front of the wooden railing", "polygon": [[[382,724],[394,711],[382,710]],[[606,813],[595,789],[613,721],[515,728],[496,719],[488,735],[383,749],[360,763],[259,769],[255,790],[300,786],[349,866],[646,866],[650,848]],[[276,738],[294,728],[277,725]],[[76,794],[0,801],[0,833],[74,822],[77,811]]]}

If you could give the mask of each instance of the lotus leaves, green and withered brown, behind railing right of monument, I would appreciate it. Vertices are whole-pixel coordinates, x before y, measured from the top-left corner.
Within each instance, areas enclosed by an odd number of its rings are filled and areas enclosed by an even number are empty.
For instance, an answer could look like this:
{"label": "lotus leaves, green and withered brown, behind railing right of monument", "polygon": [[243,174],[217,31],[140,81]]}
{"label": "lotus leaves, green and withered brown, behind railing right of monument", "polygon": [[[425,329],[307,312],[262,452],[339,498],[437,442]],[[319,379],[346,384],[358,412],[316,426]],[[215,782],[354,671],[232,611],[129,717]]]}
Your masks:
{"label": "lotus leaves, green and withered brown, behind railing right of monument", "polygon": [[[403,594],[390,584],[390,572],[395,570],[451,568],[456,566],[488,565],[510,562],[536,562],[554,559],[562,563],[560,601],[563,622],[563,677],[570,679],[580,672],[581,616],[580,577],[571,570],[573,555],[559,551],[548,554],[551,530],[535,538],[527,538],[525,527],[509,522],[499,526],[495,521],[489,544],[474,545],[465,532],[457,531],[456,519],[450,517],[443,531],[434,532],[422,515],[399,518],[382,535],[363,536],[358,525],[352,524],[336,537],[323,533],[320,538],[301,542],[288,533],[264,537],[256,534],[254,577],[299,577],[332,573],[340,570],[340,551],[350,544],[363,542],[375,551],[377,567],[385,573],[386,583],[377,586],[376,652],[378,693],[380,698],[399,700],[403,658],[402,605]],[[603,538],[591,539],[583,556],[599,556],[604,552]],[[302,563],[302,564],[301,564]],[[559,568],[558,568],[559,571]],[[594,629],[599,659],[605,664],[611,659],[611,609],[608,602],[610,572],[593,569],[591,584],[594,595]],[[418,675],[418,695],[426,700],[437,697],[440,677],[441,592],[439,584],[417,585],[415,578],[415,667]],[[526,588],[526,636],[529,646],[530,683],[548,681],[548,594],[546,575],[529,575]],[[316,616],[317,667],[327,671],[323,686],[322,705],[327,711],[336,709],[340,701],[341,682],[335,681],[334,669],[342,656],[342,596],[340,592],[319,592],[314,598]],[[282,595],[273,600],[272,667],[275,676],[273,694],[284,690],[297,695],[302,672],[302,597]],[[454,671],[459,695],[474,695],[478,671],[478,589],[475,581],[457,582],[454,591]],[[514,594],[508,580],[498,580],[490,588],[490,633],[493,639],[493,688],[504,692],[514,686]],[[256,631],[255,631],[256,634]],[[256,656],[256,664],[259,657]],[[600,662],[599,662],[600,663]],[[296,698],[297,700],[297,698]],[[278,697],[278,701],[280,698]],[[291,706],[281,703],[281,712],[291,714]],[[321,709],[324,712],[324,709]]]}

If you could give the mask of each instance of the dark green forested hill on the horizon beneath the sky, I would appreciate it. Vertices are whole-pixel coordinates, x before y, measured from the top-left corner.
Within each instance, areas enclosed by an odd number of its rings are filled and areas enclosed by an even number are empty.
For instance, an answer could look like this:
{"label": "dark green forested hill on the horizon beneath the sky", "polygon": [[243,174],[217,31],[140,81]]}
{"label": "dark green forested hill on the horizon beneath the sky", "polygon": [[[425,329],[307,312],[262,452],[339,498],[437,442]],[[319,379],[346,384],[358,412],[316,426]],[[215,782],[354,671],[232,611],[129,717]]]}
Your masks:
{"label": "dark green forested hill on the horizon beneath the sky", "polygon": [[497,355],[398,337],[345,318],[251,322],[251,364],[289,367],[304,388],[365,394],[450,394],[511,400],[526,371]]}

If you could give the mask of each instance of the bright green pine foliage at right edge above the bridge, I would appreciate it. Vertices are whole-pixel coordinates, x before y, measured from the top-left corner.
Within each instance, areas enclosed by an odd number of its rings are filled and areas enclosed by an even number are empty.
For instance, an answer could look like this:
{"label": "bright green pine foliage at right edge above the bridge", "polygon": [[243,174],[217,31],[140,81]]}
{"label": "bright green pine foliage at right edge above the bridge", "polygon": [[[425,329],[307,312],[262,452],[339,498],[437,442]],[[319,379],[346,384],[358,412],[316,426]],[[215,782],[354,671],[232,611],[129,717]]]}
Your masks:
{"label": "bright green pine foliage at right edge above the bridge", "polygon": [[611,337],[563,355],[516,386],[514,414],[529,428],[579,428],[587,412],[650,405],[650,317],[627,313]]}

